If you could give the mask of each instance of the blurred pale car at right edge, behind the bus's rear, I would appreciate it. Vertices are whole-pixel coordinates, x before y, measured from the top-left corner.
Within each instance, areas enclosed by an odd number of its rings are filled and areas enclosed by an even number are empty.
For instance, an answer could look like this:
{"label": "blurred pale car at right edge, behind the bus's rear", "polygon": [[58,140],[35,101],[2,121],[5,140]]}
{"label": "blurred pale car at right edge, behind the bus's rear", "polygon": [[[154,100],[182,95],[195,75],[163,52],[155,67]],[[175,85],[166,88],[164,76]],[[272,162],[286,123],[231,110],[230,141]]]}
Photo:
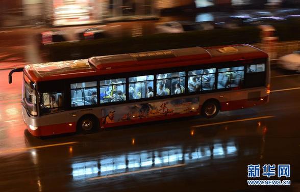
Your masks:
{"label": "blurred pale car at right edge, behind the bus's rear", "polygon": [[300,72],[300,50],[279,58],[278,64],[283,69]]}

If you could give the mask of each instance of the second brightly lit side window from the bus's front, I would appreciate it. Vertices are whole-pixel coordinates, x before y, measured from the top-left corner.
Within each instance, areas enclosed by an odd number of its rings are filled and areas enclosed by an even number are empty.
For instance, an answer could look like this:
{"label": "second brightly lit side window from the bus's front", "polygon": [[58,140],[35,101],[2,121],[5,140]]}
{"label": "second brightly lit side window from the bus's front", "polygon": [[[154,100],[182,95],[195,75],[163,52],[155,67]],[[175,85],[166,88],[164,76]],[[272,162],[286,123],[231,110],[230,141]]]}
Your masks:
{"label": "second brightly lit side window from the bus's front", "polygon": [[100,103],[126,101],[126,78],[100,81]]}

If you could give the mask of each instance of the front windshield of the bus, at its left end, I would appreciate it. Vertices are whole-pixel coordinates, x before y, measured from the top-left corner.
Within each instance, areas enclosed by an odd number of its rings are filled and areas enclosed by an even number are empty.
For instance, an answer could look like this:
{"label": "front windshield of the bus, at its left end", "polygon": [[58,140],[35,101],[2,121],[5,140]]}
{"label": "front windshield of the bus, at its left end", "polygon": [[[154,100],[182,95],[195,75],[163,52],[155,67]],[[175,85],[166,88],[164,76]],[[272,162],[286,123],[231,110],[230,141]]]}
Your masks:
{"label": "front windshield of the bus, at its left end", "polygon": [[36,107],[36,91],[31,88],[25,81],[23,84],[22,92],[22,105],[26,108],[26,111],[33,116],[37,115]]}

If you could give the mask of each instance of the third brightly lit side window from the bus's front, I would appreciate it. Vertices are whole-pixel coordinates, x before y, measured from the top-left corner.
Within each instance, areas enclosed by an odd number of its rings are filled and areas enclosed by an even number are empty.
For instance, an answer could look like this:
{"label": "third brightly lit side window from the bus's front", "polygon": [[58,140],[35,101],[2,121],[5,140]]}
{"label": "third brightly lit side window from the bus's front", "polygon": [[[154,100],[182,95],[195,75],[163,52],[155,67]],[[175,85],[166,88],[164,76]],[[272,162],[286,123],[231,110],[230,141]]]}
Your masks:
{"label": "third brightly lit side window from the bus's front", "polygon": [[153,92],[154,75],[143,75],[129,78],[129,99],[151,98]]}

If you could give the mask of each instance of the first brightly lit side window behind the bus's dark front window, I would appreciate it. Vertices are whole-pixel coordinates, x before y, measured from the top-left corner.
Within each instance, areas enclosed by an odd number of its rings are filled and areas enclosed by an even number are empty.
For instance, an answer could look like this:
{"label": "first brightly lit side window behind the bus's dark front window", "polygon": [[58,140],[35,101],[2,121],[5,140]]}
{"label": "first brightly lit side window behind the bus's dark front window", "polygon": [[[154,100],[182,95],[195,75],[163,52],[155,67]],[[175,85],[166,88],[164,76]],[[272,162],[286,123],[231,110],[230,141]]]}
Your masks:
{"label": "first brightly lit side window behind the bus's dark front window", "polygon": [[71,84],[71,106],[97,104],[97,81]]}

